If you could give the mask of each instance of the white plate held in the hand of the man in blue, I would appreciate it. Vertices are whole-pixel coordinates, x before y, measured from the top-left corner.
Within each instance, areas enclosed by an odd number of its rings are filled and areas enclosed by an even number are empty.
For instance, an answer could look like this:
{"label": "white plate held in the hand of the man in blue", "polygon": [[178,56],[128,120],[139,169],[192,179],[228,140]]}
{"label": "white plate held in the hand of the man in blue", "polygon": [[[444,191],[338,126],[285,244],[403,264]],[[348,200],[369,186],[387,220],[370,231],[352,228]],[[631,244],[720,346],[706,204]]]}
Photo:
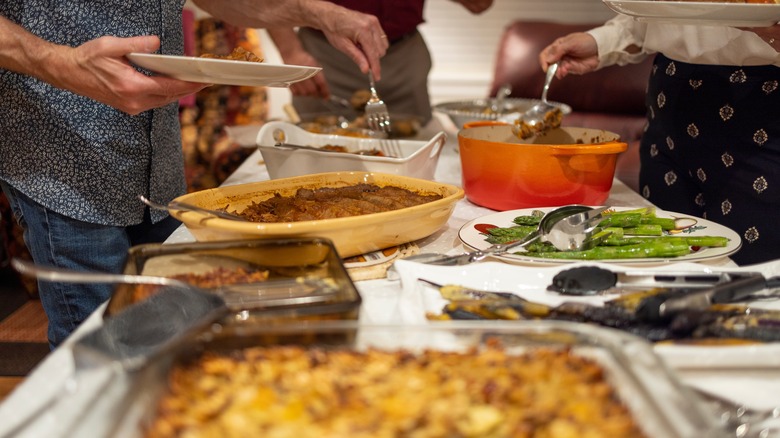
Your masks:
{"label": "white plate held in the hand of the man in blue", "polygon": [[133,64],[183,81],[204,84],[246,85],[259,87],[289,87],[319,72],[319,67],[266,64],[264,62],[230,59],[199,58],[194,56],[131,53],[127,59]]}

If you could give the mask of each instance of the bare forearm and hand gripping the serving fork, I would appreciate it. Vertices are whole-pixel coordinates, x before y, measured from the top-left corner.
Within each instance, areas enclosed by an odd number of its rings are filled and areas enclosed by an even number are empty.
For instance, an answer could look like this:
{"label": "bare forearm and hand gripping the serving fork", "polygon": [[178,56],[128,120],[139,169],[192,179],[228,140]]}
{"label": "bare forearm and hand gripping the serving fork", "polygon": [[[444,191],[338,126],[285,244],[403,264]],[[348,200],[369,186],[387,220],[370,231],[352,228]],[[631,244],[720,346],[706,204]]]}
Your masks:
{"label": "bare forearm and hand gripping the serving fork", "polygon": [[321,30],[363,73],[379,79],[379,58],[389,47],[379,20],[323,0],[194,0],[214,17],[244,27],[307,26]]}

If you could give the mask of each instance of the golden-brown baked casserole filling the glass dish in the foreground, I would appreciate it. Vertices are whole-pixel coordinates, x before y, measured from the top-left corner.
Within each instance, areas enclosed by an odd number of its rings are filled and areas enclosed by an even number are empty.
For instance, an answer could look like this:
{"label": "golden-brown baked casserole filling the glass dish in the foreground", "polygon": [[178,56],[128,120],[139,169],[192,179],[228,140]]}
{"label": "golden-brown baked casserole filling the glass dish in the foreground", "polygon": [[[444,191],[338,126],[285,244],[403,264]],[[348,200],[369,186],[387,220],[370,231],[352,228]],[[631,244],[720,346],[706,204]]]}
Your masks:
{"label": "golden-brown baked casserole filling the glass dish in the foreground", "polygon": [[638,437],[595,362],[298,346],[205,353],[174,367],[147,437]]}

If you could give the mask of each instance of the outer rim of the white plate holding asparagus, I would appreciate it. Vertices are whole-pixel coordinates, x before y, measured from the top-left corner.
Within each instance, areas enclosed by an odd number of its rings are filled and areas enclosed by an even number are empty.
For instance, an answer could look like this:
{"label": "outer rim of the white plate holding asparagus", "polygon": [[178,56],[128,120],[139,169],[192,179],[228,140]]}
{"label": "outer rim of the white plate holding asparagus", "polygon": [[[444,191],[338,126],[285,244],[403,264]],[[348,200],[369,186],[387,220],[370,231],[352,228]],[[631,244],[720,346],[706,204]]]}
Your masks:
{"label": "outer rim of the white plate holding asparagus", "polygon": [[[641,205],[640,206],[612,206],[610,208],[614,208],[614,209],[616,209],[618,211],[625,211],[625,210],[632,210],[632,209],[644,208],[644,207],[652,207],[652,206],[641,206]],[[472,243],[467,242],[466,239],[464,239],[464,237],[463,237],[463,234],[467,230],[470,231],[469,229],[473,228],[473,226],[476,223],[478,223],[478,221],[485,221],[485,220],[488,220],[487,218],[490,218],[490,217],[493,217],[493,216],[503,216],[503,215],[509,216],[511,214],[516,214],[516,216],[521,216],[522,213],[519,213],[519,212],[531,212],[533,210],[541,210],[541,211],[545,211],[546,212],[546,211],[549,211],[549,210],[554,209],[554,208],[558,208],[558,207],[557,206],[553,206],[553,207],[520,208],[520,209],[515,209],[515,210],[497,211],[497,212],[494,212],[494,213],[491,213],[491,214],[480,216],[478,218],[474,218],[474,219],[466,222],[465,224],[463,224],[458,229],[458,239],[467,248],[470,248],[470,249],[473,249],[473,250],[485,249],[488,246],[490,246],[490,244],[486,243],[485,245],[480,245],[479,247],[477,247],[477,246],[474,246]],[[654,208],[656,209],[656,213],[657,214],[664,214],[664,215],[667,215],[667,216],[677,215],[677,216],[695,217],[693,215],[686,215],[686,214],[683,214],[683,213],[663,210],[660,207],[654,207]],[[527,214],[527,213],[525,213],[525,214]],[[542,258],[539,258],[539,257],[531,257],[531,256],[518,256],[518,255],[515,255],[515,254],[491,255],[490,257],[492,257],[494,259],[497,259],[497,260],[501,260],[503,262],[512,263],[512,264],[534,264],[534,265],[545,265],[545,266],[565,265],[565,264],[572,264],[572,263],[576,263],[576,262],[585,262],[585,261],[609,263],[609,264],[616,264],[616,265],[642,265],[642,266],[648,266],[648,265],[653,265],[653,264],[656,264],[656,265],[657,264],[667,264],[667,263],[672,263],[672,262],[674,262],[674,263],[677,263],[677,262],[701,262],[701,261],[708,261],[708,260],[717,260],[717,259],[721,259],[721,258],[724,258],[724,257],[728,257],[731,254],[734,254],[735,252],[739,251],[739,249],[742,247],[742,237],[736,231],[734,231],[734,230],[732,230],[732,229],[730,229],[730,228],[728,228],[728,227],[726,227],[724,225],[720,225],[720,224],[718,224],[716,222],[710,221],[708,219],[696,218],[696,220],[697,221],[704,221],[704,222],[707,223],[708,226],[720,227],[725,232],[733,234],[733,236],[736,237],[736,242],[737,242],[736,245],[734,247],[730,247],[731,242],[729,242],[729,245],[727,245],[726,248],[724,248],[725,252],[722,253],[722,254],[716,254],[716,255],[710,255],[710,256],[702,255],[702,256],[699,256],[699,257],[696,257],[695,254],[691,254],[691,255],[688,255],[688,256],[682,256],[682,257],[674,258],[674,259],[670,259],[670,258],[647,258],[647,259],[634,258],[634,259],[607,259],[607,260],[560,260],[560,259],[542,259]],[[468,239],[468,240],[471,241],[471,239]],[[734,240],[734,239],[731,239],[731,240]]]}

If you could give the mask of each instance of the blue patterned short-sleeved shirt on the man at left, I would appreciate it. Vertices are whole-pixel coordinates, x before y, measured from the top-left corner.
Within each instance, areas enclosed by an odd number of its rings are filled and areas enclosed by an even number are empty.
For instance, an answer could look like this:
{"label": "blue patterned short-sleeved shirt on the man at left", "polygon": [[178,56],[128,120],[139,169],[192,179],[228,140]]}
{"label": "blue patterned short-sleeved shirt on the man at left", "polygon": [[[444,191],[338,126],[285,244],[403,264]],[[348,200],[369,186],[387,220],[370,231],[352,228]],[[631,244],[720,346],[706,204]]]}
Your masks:
{"label": "blue patterned short-sleeved shirt on the man at left", "polygon": [[[0,14],[39,37],[78,46],[112,35],[158,35],[183,51],[184,0],[2,0]],[[57,213],[97,224],[143,220],[139,194],[186,190],[178,106],[131,116],[0,69],[0,179]],[[153,221],[167,213],[152,211]]]}

